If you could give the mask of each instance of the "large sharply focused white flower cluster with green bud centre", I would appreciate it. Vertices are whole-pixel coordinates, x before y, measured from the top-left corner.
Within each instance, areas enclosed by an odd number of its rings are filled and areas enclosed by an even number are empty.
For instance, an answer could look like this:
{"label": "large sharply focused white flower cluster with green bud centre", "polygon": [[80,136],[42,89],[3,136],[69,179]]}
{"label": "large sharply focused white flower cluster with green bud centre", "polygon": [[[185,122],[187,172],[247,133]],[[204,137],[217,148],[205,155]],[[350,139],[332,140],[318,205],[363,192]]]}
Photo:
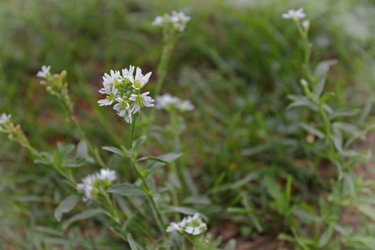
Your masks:
{"label": "large sharply focused white flower cluster with green bud centre", "polygon": [[154,106],[150,92],[140,94],[140,90],[148,82],[151,72],[142,75],[142,70],[137,67],[135,77],[133,76],[134,66],[120,71],[111,70],[111,75],[107,73],[103,76],[103,88],[99,90],[102,94],[107,94],[105,99],[99,100],[99,106],[107,106],[116,103],[113,107],[120,117],[124,117],[127,123],[132,122],[132,114],[138,112],[142,106]]}

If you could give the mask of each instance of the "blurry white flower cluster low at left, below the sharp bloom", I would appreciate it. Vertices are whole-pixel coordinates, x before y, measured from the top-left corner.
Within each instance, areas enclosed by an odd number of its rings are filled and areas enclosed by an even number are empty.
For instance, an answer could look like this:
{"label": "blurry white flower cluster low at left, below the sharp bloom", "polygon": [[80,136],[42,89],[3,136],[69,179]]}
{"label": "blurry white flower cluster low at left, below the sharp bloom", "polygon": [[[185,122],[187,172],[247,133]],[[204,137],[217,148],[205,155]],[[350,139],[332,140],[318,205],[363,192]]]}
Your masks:
{"label": "blurry white flower cluster low at left, below the sharp bloom", "polygon": [[105,189],[110,187],[112,181],[115,179],[116,172],[114,170],[102,168],[100,173],[87,175],[82,178],[82,183],[77,184],[77,190],[84,192],[83,201],[93,200],[98,193],[105,192]]}

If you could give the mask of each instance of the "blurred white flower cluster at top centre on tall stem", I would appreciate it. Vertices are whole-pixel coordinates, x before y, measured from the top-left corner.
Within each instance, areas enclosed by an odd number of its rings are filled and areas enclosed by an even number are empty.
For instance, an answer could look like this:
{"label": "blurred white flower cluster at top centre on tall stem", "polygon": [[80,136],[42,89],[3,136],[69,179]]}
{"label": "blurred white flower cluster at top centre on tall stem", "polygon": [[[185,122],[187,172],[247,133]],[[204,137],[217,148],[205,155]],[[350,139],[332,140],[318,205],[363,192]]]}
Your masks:
{"label": "blurred white flower cluster at top centre on tall stem", "polygon": [[151,24],[163,28],[168,28],[168,26],[172,25],[175,30],[182,32],[190,19],[191,17],[186,16],[182,11],[177,12],[172,10],[172,15],[165,13],[164,16],[156,16]]}

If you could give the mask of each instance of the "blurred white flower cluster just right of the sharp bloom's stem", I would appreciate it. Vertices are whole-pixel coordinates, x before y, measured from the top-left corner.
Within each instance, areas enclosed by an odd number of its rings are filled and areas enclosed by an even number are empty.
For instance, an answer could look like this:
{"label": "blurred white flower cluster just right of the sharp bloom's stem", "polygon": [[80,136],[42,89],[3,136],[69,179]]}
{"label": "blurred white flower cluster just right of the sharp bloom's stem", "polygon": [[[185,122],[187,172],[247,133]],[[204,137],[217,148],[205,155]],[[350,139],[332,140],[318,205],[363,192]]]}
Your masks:
{"label": "blurred white flower cluster just right of the sharp bloom's stem", "polygon": [[189,100],[181,100],[177,96],[171,96],[168,93],[163,94],[162,96],[157,96],[155,100],[155,108],[157,109],[169,110],[175,108],[180,111],[190,111],[195,108]]}

